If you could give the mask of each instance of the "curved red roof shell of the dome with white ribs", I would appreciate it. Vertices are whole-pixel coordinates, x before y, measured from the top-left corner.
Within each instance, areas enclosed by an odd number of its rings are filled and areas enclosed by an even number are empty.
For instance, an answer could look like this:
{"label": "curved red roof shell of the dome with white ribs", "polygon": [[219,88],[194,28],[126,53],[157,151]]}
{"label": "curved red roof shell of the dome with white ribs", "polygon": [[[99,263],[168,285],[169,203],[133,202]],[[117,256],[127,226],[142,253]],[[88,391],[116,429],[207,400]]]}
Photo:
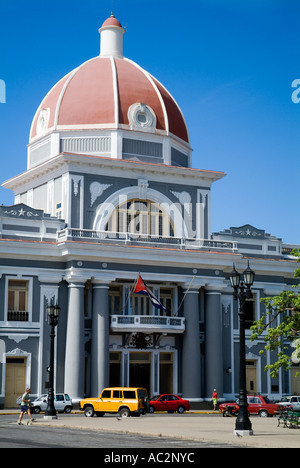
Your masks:
{"label": "curved red roof shell of the dome with white ribs", "polygon": [[83,63],[51,89],[34,117],[30,141],[41,136],[38,126],[42,109],[47,116],[45,135],[53,130],[129,126],[128,110],[136,103],[152,109],[156,131],[189,142],[178,105],[155,78],[126,58],[101,56]]}

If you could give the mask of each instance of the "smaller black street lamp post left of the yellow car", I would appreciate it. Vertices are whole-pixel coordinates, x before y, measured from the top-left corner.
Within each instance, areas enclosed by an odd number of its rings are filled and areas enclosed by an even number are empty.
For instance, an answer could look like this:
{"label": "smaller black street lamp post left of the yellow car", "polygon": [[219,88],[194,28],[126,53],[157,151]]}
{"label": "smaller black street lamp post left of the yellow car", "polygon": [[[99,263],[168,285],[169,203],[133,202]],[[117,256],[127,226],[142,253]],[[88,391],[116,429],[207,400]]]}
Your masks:
{"label": "smaller black street lamp post left of the yellow car", "polygon": [[49,365],[49,387],[48,387],[48,403],[45,411],[45,419],[57,419],[56,410],[54,407],[54,338],[55,327],[58,323],[60,307],[52,303],[47,307],[48,323],[51,326],[50,333],[50,365]]}

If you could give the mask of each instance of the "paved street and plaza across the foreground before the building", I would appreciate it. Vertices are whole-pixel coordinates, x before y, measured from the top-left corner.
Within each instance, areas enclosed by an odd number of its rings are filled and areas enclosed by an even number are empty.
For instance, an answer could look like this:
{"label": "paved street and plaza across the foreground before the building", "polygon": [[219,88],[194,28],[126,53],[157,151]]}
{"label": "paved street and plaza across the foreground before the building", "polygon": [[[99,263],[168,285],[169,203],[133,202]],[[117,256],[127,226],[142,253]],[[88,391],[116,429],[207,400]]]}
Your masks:
{"label": "paved street and plaza across the foreground before the building", "polygon": [[253,436],[237,437],[233,434],[235,418],[221,414],[151,414],[140,418],[105,415],[86,418],[83,414],[58,415],[46,421],[37,415],[27,426],[16,424],[18,415],[0,413],[0,447],[87,447],[132,450],[197,448],[300,448],[300,429],[277,425],[277,418],[251,418]]}

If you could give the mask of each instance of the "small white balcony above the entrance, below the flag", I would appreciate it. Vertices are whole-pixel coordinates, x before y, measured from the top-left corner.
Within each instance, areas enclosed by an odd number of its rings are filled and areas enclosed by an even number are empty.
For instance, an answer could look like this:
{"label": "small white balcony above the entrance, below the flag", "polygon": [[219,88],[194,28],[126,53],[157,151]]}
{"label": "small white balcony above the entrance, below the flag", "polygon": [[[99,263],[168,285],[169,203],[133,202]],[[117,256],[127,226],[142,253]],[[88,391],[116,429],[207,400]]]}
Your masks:
{"label": "small white balcony above the entrance, below the flag", "polygon": [[184,317],[158,315],[111,315],[110,329],[113,332],[183,333]]}

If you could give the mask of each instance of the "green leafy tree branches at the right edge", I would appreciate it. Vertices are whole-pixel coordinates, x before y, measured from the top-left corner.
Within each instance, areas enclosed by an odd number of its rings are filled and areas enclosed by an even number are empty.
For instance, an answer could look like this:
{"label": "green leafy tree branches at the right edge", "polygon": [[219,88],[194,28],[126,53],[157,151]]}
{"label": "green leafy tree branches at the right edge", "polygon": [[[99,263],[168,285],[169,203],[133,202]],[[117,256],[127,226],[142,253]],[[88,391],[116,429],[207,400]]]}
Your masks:
{"label": "green leafy tree branches at the right edge", "polygon": [[[293,250],[292,254],[300,261],[300,249]],[[294,278],[300,278],[300,268],[294,273]],[[265,346],[261,351],[277,351],[277,361],[268,364],[265,370],[270,370],[272,377],[278,376],[280,368],[290,369],[294,362],[300,362],[300,284],[292,286],[290,291],[283,291],[278,296],[265,297],[261,302],[265,304],[266,313],[256,320],[251,327],[251,341],[254,341],[263,332]],[[280,323],[276,324],[280,316]],[[291,347],[294,348],[291,351]],[[300,373],[296,375],[300,376]]]}

